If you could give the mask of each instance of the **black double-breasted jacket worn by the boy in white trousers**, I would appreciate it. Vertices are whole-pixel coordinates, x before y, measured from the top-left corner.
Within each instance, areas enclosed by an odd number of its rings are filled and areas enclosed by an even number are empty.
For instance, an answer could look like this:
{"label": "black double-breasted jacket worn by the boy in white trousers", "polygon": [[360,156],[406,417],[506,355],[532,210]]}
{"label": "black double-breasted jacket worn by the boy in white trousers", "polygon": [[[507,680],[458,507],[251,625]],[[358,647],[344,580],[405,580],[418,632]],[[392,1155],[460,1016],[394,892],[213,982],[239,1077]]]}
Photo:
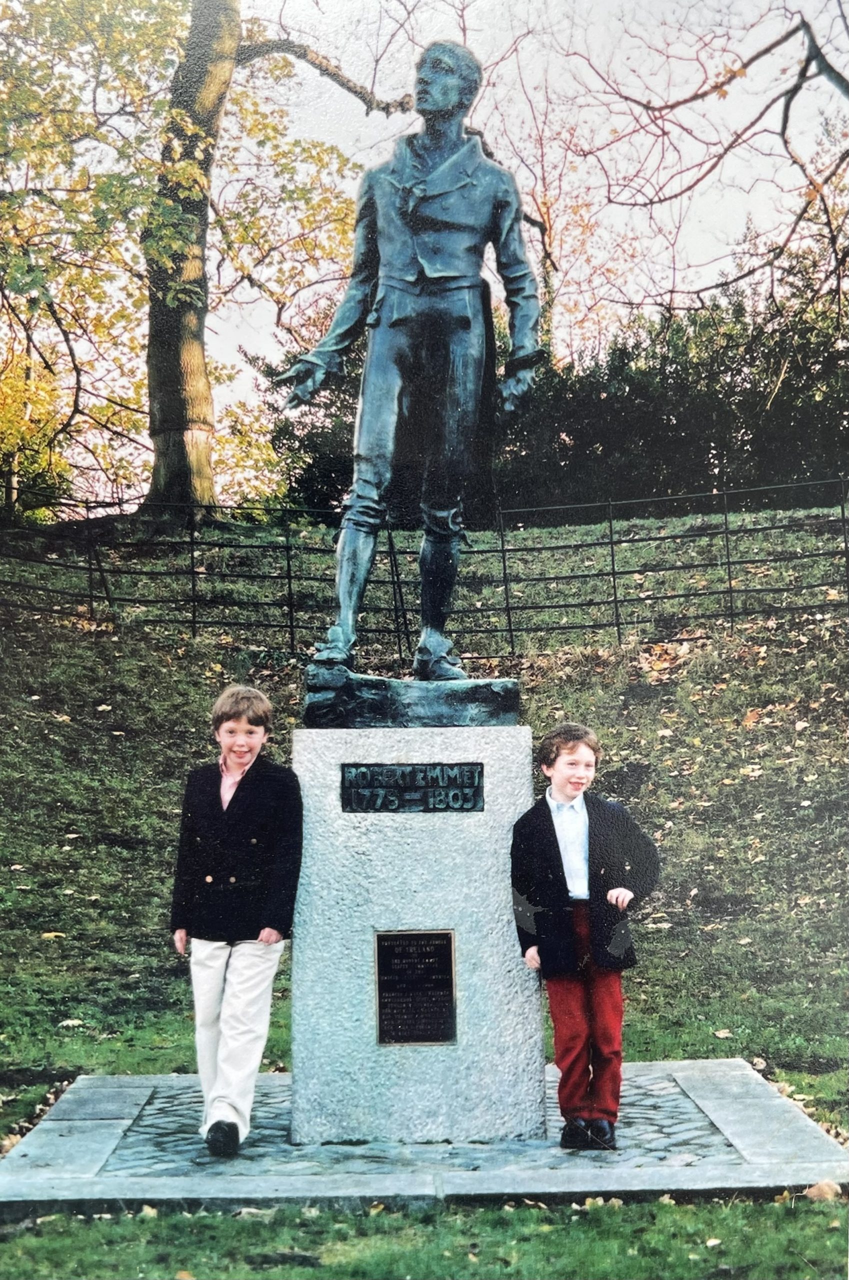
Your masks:
{"label": "black double-breasted jacket worn by the boy in white trousers", "polygon": [[172,902],[172,932],[242,942],[292,932],[301,870],[301,788],[292,769],[259,755],[222,808],[218,762],[192,769]]}

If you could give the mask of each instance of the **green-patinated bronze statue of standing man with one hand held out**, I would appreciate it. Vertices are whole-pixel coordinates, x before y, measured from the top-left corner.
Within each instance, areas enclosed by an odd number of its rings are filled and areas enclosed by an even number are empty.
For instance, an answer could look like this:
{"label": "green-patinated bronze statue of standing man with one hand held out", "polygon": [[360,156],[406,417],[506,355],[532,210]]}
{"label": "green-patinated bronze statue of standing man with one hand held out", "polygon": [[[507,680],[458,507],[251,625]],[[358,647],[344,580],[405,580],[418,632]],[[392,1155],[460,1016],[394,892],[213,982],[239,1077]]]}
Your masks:
{"label": "green-patinated bronze statue of standing man with one hand held out", "polygon": [[498,388],[503,413],[517,411],[542,358],[516,183],[464,129],[480,79],[480,64],[461,45],[425,49],[415,84],[424,131],[401,138],[392,160],[365,174],[348,289],[327,337],[284,375],[295,383],[287,404],[307,403],[328,374],[343,375],[346,351],[369,329],[353,484],[337,547],[338,613],[318,646],[318,663],[353,664],[397,442],[412,424],[424,517],[421,636],[412,669],[419,680],[465,678],[444,627],[493,361],[489,291],[480,274],[488,243],[510,310],[511,356]]}

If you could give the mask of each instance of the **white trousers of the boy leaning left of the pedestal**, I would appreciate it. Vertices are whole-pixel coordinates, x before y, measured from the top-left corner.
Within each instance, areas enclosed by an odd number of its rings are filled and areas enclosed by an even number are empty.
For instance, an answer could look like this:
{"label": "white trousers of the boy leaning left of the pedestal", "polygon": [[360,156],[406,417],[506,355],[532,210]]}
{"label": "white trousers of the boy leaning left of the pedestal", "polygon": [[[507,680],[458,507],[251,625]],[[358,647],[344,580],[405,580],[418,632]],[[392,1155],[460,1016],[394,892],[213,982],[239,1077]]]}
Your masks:
{"label": "white trousers of the boy leaning left of the pedestal", "polygon": [[204,1091],[200,1132],[216,1120],[251,1129],[256,1076],[271,1015],[274,974],[286,942],[209,942],[192,938],[195,1044]]}

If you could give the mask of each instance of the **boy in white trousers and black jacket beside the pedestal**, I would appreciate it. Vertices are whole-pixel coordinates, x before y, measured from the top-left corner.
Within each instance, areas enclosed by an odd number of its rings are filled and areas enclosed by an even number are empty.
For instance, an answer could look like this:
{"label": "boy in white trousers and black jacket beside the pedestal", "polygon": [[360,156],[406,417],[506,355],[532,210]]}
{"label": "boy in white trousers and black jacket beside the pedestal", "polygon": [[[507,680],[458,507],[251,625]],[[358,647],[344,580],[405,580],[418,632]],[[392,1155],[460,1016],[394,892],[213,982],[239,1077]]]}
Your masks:
{"label": "boy in white trousers and black jacket beside the pedestal", "polygon": [[292,769],[261,754],[270,724],[271,704],[247,685],[213,707],[220,756],[188,776],[174,878],[179,955],[191,940],[200,1132],[225,1158],[250,1132],[301,869],[301,790]]}

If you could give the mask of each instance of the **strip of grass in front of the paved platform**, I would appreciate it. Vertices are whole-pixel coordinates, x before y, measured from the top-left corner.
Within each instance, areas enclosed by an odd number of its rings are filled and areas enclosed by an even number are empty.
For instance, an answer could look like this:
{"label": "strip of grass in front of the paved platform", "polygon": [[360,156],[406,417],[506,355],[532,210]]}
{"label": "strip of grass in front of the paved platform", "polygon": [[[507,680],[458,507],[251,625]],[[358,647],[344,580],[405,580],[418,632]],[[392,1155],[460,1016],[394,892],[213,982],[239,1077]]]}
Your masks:
{"label": "strip of grass in front of the paved platform", "polygon": [[[0,1280],[843,1280],[845,1211],[805,1201],[248,1216],[53,1217],[0,1244]],[[242,1211],[243,1213],[246,1211]]]}

